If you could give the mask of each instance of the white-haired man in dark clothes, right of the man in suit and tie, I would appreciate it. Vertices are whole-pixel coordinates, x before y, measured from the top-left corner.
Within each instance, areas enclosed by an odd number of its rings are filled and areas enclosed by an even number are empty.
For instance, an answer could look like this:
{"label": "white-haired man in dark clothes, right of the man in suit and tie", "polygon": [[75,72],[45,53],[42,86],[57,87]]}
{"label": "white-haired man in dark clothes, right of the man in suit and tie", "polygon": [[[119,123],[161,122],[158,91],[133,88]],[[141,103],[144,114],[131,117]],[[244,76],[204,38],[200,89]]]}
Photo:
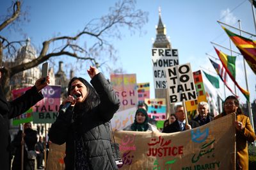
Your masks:
{"label": "white-haired man in dark clothes, right of the man in suit and tie", "polygon": [[205,125],[214,119],[209,112],[209,105],[207,102],[200,102],[197,105],[197,110],[198,116],[194,120],[199,123],[200,126]]}

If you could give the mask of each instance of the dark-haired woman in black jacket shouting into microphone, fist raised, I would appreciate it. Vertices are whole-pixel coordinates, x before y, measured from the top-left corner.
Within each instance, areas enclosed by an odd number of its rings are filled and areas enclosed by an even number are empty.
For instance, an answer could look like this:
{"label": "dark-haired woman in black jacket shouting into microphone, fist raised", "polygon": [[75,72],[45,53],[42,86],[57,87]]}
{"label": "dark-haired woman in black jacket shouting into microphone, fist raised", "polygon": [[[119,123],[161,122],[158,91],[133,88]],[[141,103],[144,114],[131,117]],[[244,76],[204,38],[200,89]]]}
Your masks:
{"label": "dark-haired woman in black jacket shouting into microphone, fist raised", "polygon": [[[66,143],[66,169],[118,169],[111,150],[109,120],[120,106],[111,84],[93,66],[83,78],[68,83],[68,97],[49,131],[52,143]],[[74,97],[76,95],[76,98]],[[66,112],[63,105],[70,103]]]}

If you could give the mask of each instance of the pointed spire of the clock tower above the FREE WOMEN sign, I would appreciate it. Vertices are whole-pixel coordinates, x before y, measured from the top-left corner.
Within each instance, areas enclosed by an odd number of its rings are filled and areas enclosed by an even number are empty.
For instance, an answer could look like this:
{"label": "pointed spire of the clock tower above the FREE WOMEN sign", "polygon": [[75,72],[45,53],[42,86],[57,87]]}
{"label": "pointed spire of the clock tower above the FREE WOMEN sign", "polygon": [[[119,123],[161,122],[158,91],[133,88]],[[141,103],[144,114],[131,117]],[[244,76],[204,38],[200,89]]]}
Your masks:
{"label": "pointed spire of the clock tower above the FREE WOMEN sign", "polygon": [[156,40],[153,43],[153,47],[155,48],[171,48],[172,45],[170,44],[168,38],[166,37],[166,28],[162,22],[161,19],[161,7],[159,6],[158,8],[158,13],[159,13],[159,20],[158,20],[158,25],[156,27]]}

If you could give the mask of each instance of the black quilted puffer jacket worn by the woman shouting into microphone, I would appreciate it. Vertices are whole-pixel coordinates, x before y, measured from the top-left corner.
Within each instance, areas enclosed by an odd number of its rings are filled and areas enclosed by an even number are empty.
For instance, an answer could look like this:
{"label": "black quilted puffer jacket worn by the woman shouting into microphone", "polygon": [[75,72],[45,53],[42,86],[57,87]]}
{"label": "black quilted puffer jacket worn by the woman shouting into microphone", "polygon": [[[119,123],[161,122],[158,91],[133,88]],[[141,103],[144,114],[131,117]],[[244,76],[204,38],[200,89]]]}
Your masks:
{"label": "black quilted puffer jacket worn by the woman shouting into microphone", "polygon": [[[81,118],[72,120],[73,107],[68,107],[65,114],[60,114],[52,124],[49,139],[52,143],[66,143],[65,168],[74,169],[75,135],[82,135],[90,169],[118,169],[111,150],[111,131],[109,120],[118,110],[120,102],[111,84],[102,73],[93,77],[93,87],[100,97],[100,104],[90,112],[83,112]],[[74,121],[73,123],[71,123]]]}

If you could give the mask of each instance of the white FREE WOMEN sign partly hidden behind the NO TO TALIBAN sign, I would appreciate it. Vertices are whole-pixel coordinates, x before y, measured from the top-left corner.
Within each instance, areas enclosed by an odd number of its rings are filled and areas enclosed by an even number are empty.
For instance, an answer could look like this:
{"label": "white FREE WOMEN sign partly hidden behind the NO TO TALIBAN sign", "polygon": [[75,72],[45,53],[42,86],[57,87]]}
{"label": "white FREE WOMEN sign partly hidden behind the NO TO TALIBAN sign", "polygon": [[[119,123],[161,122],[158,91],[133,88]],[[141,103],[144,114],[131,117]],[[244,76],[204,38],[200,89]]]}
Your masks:
{"label": "white FREE WOMEN sign partly hidden behind the NO TO TALIBAN sign", "polygon": [[179,65],[177,49],[152,49],[152,64],[155,89],[166,89],[166,73],[164,68]]}

